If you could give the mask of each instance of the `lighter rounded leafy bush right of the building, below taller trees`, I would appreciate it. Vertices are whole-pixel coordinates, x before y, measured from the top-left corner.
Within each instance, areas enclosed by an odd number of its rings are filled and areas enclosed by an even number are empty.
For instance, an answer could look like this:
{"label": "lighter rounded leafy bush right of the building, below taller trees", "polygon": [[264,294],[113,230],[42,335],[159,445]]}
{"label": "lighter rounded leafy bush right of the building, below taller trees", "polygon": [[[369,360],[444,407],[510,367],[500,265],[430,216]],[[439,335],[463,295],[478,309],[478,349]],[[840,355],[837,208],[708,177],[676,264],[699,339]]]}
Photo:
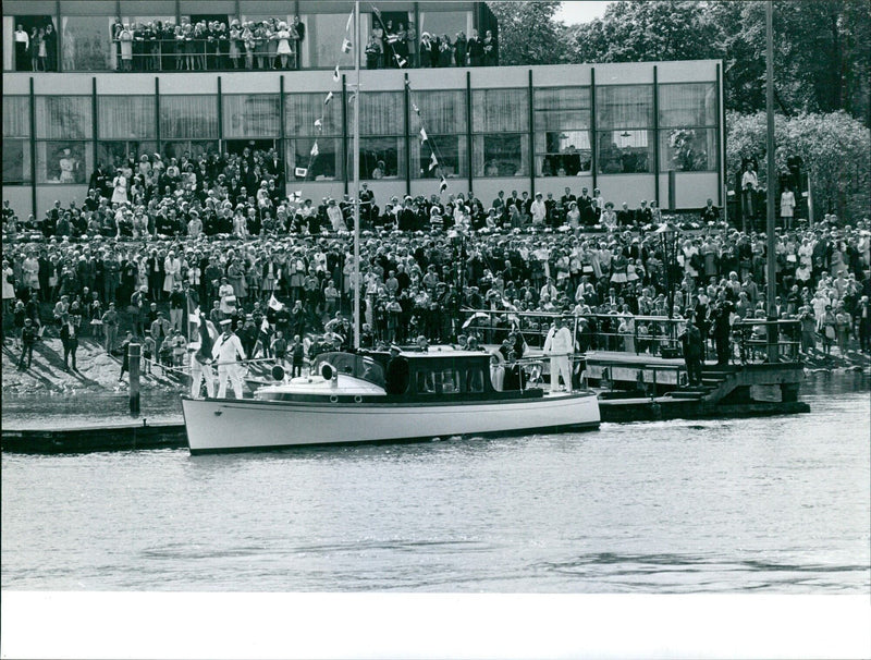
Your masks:
{"label": "lighter rounded leafy bush right of the building, below taller trees", "polygon": [[[764,112],[726,115],[726,169],[739,171],[744,159],[759,161],[759,183],[766,186]],[[871,131],[844,111],[774,117],[775,170],[787,174],[787,159],[799,157],[810,175],[815,208],[856,219],[868,215],[871,184]]]}

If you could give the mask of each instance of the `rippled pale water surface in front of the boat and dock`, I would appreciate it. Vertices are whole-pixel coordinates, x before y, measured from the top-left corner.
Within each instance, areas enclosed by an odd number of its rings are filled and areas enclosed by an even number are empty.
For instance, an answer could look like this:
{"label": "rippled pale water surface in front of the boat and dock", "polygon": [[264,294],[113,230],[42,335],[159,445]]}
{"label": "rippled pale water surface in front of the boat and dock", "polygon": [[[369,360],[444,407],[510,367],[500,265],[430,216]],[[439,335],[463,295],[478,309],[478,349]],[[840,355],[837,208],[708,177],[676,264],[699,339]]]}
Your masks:
{"label": "rippled pale water surface in front of the boat and dock", "polygon": [[810,415],[579,435],[4,454],[2,587],[867,592],[869,384],[814,375]]}

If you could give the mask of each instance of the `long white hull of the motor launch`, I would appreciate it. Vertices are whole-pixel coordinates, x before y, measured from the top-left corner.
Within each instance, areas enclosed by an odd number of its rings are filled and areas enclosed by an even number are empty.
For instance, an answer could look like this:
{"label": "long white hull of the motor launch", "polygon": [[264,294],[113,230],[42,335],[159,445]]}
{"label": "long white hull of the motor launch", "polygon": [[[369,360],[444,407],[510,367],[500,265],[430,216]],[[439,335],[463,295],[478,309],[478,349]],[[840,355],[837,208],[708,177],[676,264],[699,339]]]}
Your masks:
{"label": "long white hull of the motor launch", "polygon": [[192,454],[597,428],[591,392],[510,401],[330,403],[183,399]]}

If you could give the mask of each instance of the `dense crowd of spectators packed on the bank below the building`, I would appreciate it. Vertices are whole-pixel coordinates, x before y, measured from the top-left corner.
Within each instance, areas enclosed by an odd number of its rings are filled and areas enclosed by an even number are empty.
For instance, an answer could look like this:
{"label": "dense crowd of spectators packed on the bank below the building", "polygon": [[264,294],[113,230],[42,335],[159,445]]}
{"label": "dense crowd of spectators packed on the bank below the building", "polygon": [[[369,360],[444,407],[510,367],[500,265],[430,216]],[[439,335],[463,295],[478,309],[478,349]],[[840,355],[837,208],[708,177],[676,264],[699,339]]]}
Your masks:
{"label": "dense crowd of spectators packed on the bank below the building", "polygon": [[[7,332],[32,345],[45,328],[63,330],[113,352],[130,331],[177,365],[200,310],[216,327],[230,319],[249,356],[286,353],[294,338],[351,345],[354,204],[284,195],[279,160],[248,149],[143,156],[99,168],[81,205],[58,200],[39,220],[22,222],[5,201]],[[726,225],[710,201],[691,220],[670,270],[653,204],[614,211],[598,191],[566,190],[560,199],[501,192],[486,209],[473,193],[382,207],[364,183],[361,343],[453,341],[463,309],[506,313],[496,316],[530,335],[547,325],[523,313],[582,316],[581,349],[654,352],[647,317],[670,316],[671,281],[671,316],[691,316],[727,360],[717,338],[727,346],[736,320],[766,317],[766,243]],[[776,314],[800,323],[801,350],[846,355],[858,340],[868,352],[868,219],[781,229],[775,245]]]}

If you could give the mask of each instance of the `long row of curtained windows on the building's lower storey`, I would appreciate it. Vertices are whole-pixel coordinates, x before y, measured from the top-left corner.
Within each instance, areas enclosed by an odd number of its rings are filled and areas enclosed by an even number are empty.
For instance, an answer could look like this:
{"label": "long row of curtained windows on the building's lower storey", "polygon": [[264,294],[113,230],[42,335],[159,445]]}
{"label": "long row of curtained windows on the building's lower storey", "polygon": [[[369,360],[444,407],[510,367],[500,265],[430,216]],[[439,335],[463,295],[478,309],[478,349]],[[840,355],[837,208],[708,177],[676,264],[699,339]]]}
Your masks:
{"label": "long row of curtained windows on the building's lower storey", "polygon": [[[566,81],[585,80],[575,76],[572,66],[565,69]],[[501,69],[499,80],[473,72],[471,84],[479,87],[468,90],[465,76],[456,73],[415,73],[407,90],[402,72],[371,76],[360,98],[361,179],[389,180],[394,182],[388,186],[392,188],[395,182],[406,185],[407,180],[409,191],[438,188],[442,175],[479,179],[477,184],[469,181],[471,190],[489,195],[488,186],[502,184],[487,179],[516,178],[518,190],[531,184],[547,192],[549,186],[564,185],[549,183],[548,178],[585,174],[606,182],[611,175],[643,174],[647,179],[631,181],[649,181],[650,190],[657,186],[662,199],[664,179],[655,179],[657,172],[719,173],[722,108],[713,80],[657,86],[537,87],[538,70],[531,72],[531,88],[526,70]],[[652,81],[652,66],[650,73]],[[83,185],[98,162],[120,164],[154,152],[167,158],[187,154],[196,159],[219,149],[237,152],[246,146],[274,147],[282,155],[284,180],[294,185],[289,191],[305,190],[304,182],[351,180],[356,102],[352,88],[343,98],[330,72],[285,74],[282,95],[278,73],[257,75],[262,77],[256,86],[254,78],[235,75],[223,76],[220,86],[214,77],[205,82],[192,77],[195,93],[189,95],[174,82],[164,86],[163,78],[161,93],[155,94],[155,74],[126,78],[130,84],[114,73],[33,76],[33,97],[26,94],[27,77],[12,75],[10,88],[15,94],[3,97],[3,183]],[[417,89],[438,85],[438,75],[454,88]],[[426,84],[415,84],[421,80],[415,76],[422,76]],[[90,94],[94,78],[96,98]],[[667,78],[675,80],[674,74],[670,72]],[[541,74],[544,85],[560,80],[553,72]],[[52,93],[56,81],[58,94]],[[482,88],[491,84],[513,86]],[[217,88],[222,89],[220,96]],[[331,101],[324,103],[330,90]],[[344,107],[343,101],[347,101]],[[722,176],[690,180],[691,185],[712,186],[710,182],[722,182]],[[619,184],[602,190],[610,185]],[[717,198],[716,188],[706,192]],[[645,196],[649,198],[650,193]],[[683,199],[687,198],[685,194]]]}

